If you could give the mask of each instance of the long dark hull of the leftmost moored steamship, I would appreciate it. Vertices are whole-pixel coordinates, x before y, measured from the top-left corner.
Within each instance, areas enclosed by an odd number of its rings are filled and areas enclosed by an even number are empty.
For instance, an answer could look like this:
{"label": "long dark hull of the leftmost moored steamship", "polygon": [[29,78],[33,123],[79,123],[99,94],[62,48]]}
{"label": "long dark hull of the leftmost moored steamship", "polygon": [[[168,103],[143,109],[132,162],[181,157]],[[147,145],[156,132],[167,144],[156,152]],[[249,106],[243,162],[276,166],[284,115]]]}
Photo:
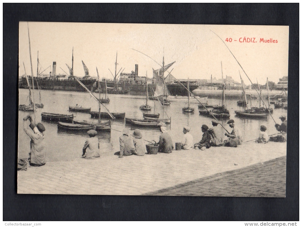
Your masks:
{"label": "long dark hull of the leftmost moored steamship", "polygon": [[[80,80],[89,90],[93,90],[93,85],[96,82],[95,79],[89,80]],[[29,78],[29,84],[32,84],[32,80]],[[61,80],[61,81],[52,81],[52,80],[34,80],[35,89],[38,88],[41,90],[68,90],[68,91],[86,91],[78,81],[76,80]],[[22,85],[20,88],[27,88],[26,78],[22,78]]]}

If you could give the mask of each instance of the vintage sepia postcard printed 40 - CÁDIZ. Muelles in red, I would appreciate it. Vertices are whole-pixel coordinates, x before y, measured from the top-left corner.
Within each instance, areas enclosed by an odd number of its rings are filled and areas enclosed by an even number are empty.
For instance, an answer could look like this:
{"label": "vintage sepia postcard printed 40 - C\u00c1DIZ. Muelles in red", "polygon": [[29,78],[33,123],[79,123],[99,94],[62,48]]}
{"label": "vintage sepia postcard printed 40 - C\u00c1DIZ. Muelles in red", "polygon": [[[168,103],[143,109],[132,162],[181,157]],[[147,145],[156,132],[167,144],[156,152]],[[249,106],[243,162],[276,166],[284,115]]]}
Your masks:
{"label": "vintage sepia postcard printed 40 - C\u00c1DIZ. Muelles in red", "polygon": [[288,37],[20,22],[18,193],[285,197]]}

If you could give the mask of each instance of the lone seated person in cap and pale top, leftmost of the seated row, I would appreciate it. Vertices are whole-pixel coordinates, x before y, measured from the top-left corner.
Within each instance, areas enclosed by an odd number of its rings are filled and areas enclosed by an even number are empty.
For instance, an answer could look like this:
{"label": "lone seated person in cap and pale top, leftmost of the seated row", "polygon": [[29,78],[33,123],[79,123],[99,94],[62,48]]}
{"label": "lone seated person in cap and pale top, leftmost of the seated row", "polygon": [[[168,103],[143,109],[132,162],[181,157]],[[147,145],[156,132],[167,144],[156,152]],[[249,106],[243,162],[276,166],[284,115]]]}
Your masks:
{"label": "lone seated person in cap and pale top, leftmost of the seated row", "polygon": [[100,157],[100,145],[99,139],[95,137],[97,135],[97,131],[89,130],[88,132],[89,138],[86,140],[83,146],[83,155],[82,158],[85,159],[95,159]]}

